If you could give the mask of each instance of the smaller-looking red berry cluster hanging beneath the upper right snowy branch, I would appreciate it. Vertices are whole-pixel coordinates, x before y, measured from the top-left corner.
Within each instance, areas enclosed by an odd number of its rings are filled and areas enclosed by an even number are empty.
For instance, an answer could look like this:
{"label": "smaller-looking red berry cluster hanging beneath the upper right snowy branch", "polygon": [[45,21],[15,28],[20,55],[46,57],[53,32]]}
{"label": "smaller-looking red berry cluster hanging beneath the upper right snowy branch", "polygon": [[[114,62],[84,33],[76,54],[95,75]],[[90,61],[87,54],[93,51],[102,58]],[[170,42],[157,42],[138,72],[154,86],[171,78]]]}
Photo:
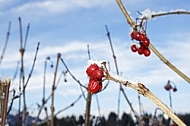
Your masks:
{"label": "smaller-looking red berry cluster hanging beneath the upper right snowy branch", "polygon": [[132,40],[139,41],[140,46],[137,46],[136,44],[131,45],[131,51],[132,52],[138,52],[139,55],[144,54],[144,56],[150,56],[150,49],[148,48],[150,41],[145,33],[139,32],[139,31],[132,31],[131,32],[131,38]]}

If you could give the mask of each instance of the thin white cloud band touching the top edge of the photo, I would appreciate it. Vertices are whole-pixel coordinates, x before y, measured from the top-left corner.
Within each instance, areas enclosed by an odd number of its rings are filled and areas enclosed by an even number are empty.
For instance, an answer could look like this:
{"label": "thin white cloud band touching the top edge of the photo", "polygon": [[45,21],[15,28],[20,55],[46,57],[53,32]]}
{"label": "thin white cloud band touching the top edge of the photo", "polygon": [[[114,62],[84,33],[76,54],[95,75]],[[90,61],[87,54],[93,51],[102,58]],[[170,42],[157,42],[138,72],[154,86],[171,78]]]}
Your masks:
{"label": "thin white cloud band touching the top edge of the photo", "polygon": [[36,13],[36,15],[41,14],[56,14],[56,13],[65,13],[72,9],[77,8],[92,8],[95,6],[106,6],[113,1],[104,1],[96,0],[57,0],[57,1],[31,1],[28,3],[23,3],[20,6],[14,7],[12,12],[28,12]]}

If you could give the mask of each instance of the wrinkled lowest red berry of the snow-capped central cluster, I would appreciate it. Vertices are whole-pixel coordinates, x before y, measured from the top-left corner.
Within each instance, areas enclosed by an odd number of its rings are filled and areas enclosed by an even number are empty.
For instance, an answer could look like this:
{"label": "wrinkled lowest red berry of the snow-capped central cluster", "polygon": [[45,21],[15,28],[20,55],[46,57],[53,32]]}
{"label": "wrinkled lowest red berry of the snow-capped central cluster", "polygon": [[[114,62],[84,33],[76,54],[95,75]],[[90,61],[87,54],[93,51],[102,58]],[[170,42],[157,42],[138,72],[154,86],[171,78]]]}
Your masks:
{"label": "wrinkled lowest red berry of the snow-capped central cluster", "polygon": [[91,93],[97,93],[100,89],[98,80],[90,79],[88,84],[88,91]]}

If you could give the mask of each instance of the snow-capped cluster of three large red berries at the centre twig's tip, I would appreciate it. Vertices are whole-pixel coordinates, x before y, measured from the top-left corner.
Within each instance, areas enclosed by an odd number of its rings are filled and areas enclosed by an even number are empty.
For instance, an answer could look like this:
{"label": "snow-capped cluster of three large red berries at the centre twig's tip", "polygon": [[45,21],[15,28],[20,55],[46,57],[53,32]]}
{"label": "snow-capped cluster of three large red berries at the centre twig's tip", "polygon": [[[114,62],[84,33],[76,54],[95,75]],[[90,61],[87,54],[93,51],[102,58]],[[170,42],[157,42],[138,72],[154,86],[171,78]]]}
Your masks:
{"label": "snow-capped cluster of three large red berries at the centre twig's tip", "polygon": [[104,76],[104,71],[99,68],[97,64],[91,64],[86,69],[89,78],[88,91],[91,93],[98,93],[102,89],[102,77]]}

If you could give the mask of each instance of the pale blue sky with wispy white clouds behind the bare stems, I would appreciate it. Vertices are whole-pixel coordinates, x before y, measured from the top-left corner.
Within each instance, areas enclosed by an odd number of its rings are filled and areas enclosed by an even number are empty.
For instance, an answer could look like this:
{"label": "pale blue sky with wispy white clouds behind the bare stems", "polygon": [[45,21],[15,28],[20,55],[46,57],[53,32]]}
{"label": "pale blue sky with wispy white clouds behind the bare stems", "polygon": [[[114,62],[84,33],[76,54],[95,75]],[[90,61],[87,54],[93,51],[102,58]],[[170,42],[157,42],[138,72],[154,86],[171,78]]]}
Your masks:
{"label": "pale blue sky with wispy white clouds behind the bare stems", "polygon": [[[155,12],[184,9],[190,11],[190,1],[126,1],[124,5],[130,12],[133,19],[139,17],[137,11],[150,9]],[[27,106],[31,115],[37,111],[36,102],[41,104],[44,61],[47,56],[51,57],[54,63],[58,52],[69,67],[73,75],[84,85],[87,85],[88,78],[85,68],[88,61],[87,45],[90,46],[91,58],[93,60],[106,60],[110,62],[111,71],[115,72],[114,61],[111,53],[105,25],[111,33],[112,44],[117,56],[118,67],[122,77],[143,82],[159,99],[169,105],[168,92],[164,86],[168,80],[174,82],[178,91],[173,93],[173,110],[177,113],[188,113],[190,101],[190,85],[167,67],[155,54],[150,57],[139,56],[130,51],[132,43],[129,32],[130,26],[120,11],[115,0],[0,0],[0,50],[3,49],[8,23],[11,21],[10,38],[3,61],[0,66],[2,78],[14,75],[17,62],[20,60],[20,38],[18,17],[22,19],[23,36],[26,27],[30,23],[30,31],[24,55],[25,76],[27,77],[34,58],[37,43],[40,48],[32,77],[27,86]],[[151,43],[160,51],[172,64],[179,68],[188,77],[190,76],[190,36],[189,15],[169,15],[154,18],[148,21],[147,34]],[[49,64],[50,65],[50,64]],[[50,94],[53,83],[54,69],[47,67],[46,74],[46,96]],[[58,76],[65,70],[60,62]],[[115,72],[116,73],[116,72]],[[18,93],[18,78],[11,85]],[[55,91],[55,112],[67,107],[81,95],[80,87],[72,77],[67,74],[67,83],[59,83]],[[100,102],[102,115],[110,111],[117,112],[119,86],[110,82],[103,92],[97,94]],[[134,109],[139,112],[138,93],[132,89],[125,88]],[[154,113],[156,106],[147,98],[141,97],[145,112]],[[49,109],[49,101],[46,106]],[[18,100],[14,102],[14,109],[18,109]],[[121,94],[120,114],[124,111],[130,113],[130,108]],[[72,114],[84,114],[85,100],[81,98],[73,107],[62,112],[59,116]],[[96,97],[92,97],[93,115],[98,115]],[[43,118],[44,112],[41,117]]]}

